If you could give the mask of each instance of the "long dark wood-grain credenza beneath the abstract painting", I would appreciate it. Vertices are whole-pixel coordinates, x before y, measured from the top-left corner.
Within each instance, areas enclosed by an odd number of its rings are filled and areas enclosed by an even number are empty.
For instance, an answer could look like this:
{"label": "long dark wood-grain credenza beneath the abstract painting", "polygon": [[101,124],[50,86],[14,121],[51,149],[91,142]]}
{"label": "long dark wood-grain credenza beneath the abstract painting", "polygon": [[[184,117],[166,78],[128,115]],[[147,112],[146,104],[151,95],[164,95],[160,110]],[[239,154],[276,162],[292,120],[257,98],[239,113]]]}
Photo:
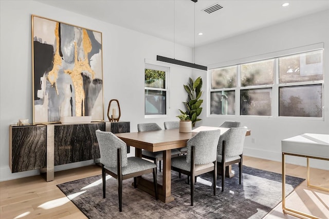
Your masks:
{"label": "long dark wood-grain credenza beneath the abstract painting", "polygon": [[[12,173],[40,169],[53,180],[54,166],[100,158],[96,130],[130,132],[130,122],[47,124],[9,127],[9,167]],[[127,153],[130,147],[127,146]]]}

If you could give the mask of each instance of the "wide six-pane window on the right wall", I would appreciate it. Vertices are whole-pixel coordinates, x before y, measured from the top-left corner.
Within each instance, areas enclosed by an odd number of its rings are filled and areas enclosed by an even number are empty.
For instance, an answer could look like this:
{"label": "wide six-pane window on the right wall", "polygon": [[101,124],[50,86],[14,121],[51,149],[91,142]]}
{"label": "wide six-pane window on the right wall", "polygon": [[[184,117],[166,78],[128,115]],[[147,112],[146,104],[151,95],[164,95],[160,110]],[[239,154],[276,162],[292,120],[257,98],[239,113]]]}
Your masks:
{"label": "wide six-pane window on the right wall", "polygon": [[323,117],[322,49],[209,73],[211,115]]}

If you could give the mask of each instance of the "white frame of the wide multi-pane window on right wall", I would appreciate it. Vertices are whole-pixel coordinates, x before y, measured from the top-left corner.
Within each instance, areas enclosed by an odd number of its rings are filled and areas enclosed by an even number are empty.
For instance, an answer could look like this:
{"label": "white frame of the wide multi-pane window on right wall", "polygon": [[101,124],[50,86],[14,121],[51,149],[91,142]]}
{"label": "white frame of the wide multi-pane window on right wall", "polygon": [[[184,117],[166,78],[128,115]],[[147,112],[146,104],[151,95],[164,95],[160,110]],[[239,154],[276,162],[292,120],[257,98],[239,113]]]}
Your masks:
{"label": "white frame of the wide multi-pane window on right wall", "polygon": [[[312,121],[324,121],[324,47],[323,44],[316,44],[310,46],[305,46],[298,48],[299,50],[296,51],[295,49],[291,50],[285,50],[285,51],[279,51],[274,52],[274,53],[269,53],[267,54],[269,57],[264,57],[262,55],[260,56],[255,56],[249,61],[245,60],[245,62],[230,62],[230,63],[225,63],[226,65],[220,65],[220,64],[215,64],[213,66],[208,67],[208,72],[207,73],[207,101],[209,104],[207,104],[207,117],[220,117],[220,118],[225,118],[229,119],[230,117],[236,117],[236,116],[242,116],[242,117],[248,117],[248,118],[270,118],[270,119],[280,119],[280,120],[312,120]],[[305,50],[304,50],[305,49]],[[306,50],[307,49],[307,50]],[[294,51],[294,52],[291,52]],[[296,83],[285,83],[285,84],[280,84],[279,83],[279,58],[284,57],[284,56],[289,56],[289,55],[297,55],[297,54],[302,54],[302,53],[308,53],[308,52],[315,52],[315,51],[322,51],[322,58],[323,58],[323,79],[320,81],[307,81],[307,82],[296,82]],[[277,56],[271,56],[271,54],[277,54]],[[259,58],[263,57],[263,58]],[[273,85],[261,85],[261,86],[247,86],[247,87],[241,87],[241,65],[246,64],[246,63],[253,63],[253,62],[259,62],[259,61],[265,61],[266,59],[275,59],[274,60],[274,72],[273,72]],[[212,69],[217,69],[217,68],[225,68],[225,67],[232,67],[232,66],[237,66],[237,84],[236,88],[223,88],[223,89],[211,89],[211,73],[210,71]],[[317,85],[321,84],[322,85],[322,117],[298,117],[298,116],[279,116],[279,88],[280,87],[290,87],[290,86],[307,86],[307,85]],[[271,88],[272,89],[272,97],[271,97],[271,116],[262,116],[262,115],[240,115],[240,91],[244,89],[257,89],[257,88]],[[210,96],[211,92],[216,92],[216,91],[222,91],[222,90],[234,90],[235,91],[235,115],[225,115],[225,114],[210,114],[210,109],[211,109],[211,102],[210,102]]]}

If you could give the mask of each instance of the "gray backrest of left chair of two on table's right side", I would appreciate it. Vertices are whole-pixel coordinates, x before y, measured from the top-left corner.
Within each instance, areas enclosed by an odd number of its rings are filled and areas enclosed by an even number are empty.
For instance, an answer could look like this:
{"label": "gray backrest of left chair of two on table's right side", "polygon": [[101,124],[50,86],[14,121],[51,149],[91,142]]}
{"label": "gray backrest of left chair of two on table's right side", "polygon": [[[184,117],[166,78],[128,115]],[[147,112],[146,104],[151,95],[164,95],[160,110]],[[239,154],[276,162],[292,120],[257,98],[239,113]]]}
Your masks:
{"label": "gray backrest of left chair of two on table's right side", "polygon": [[216,161],[217,145],[221,130],[200,131],[187,141],[186,161],[191,161],[191,148],[194,146],[194,163],[209,164]]}

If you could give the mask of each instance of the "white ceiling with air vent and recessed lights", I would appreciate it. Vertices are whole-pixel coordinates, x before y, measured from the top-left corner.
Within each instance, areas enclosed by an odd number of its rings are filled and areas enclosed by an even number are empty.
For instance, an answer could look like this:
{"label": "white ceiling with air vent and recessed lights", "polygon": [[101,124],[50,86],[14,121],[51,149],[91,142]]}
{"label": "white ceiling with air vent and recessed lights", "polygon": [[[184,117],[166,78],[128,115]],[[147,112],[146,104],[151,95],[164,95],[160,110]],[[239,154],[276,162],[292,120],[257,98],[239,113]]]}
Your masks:
{"label": "white ceiling with air vent and recessed lights", "polygon": [[[329,0],[35,1],[192,48],[329,9]],[[282,7],[285,2],[290,5]],[[223,8],[203,11],[214,4]]]}

